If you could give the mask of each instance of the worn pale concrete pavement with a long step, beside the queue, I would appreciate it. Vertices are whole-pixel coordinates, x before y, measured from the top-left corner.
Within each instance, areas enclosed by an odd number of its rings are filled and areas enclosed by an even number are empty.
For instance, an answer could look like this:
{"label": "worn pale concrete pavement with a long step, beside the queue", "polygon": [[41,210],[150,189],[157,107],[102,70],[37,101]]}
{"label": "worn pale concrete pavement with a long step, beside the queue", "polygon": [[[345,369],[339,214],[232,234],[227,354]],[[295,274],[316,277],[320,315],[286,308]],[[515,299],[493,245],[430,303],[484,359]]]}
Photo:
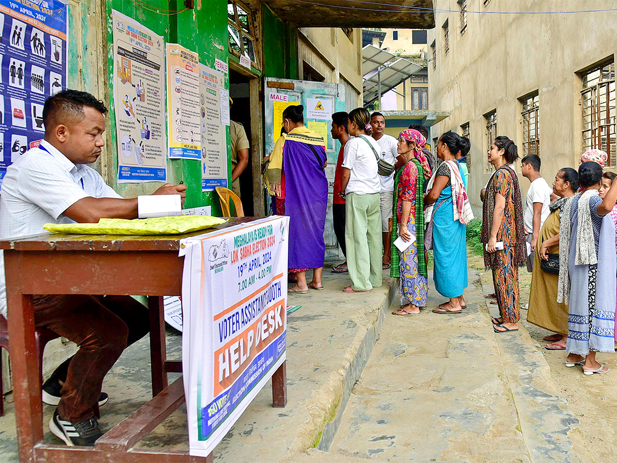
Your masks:
{"label": "worn pale concrete pavement with a long step, beside the queue", "polygon": [[[215,449],[215,461],[591,461],[544,357],[524,330],[493,332],[478,273],[469,276],[468,309],[459,315],[431,313],[443,301],[431,290],[421,315],[395,317],[394,280],[345,294],[347,275],[328,269],[325,291],[291,294],[289,304],[302,308],[288,317],[288,406],[273,409],[266,386]],[[180,356],[179,341],[168,333],[172,358]],[[146,401],[148,355],[147,339],[139,341],[107,375],[104,430]],[[0,455],[12,462],[7,409]],[[47,422],[52,407],[44,410]],[[49,433],[46,439],[57,443]],[[186,448],[186,411],[139,446]]]}

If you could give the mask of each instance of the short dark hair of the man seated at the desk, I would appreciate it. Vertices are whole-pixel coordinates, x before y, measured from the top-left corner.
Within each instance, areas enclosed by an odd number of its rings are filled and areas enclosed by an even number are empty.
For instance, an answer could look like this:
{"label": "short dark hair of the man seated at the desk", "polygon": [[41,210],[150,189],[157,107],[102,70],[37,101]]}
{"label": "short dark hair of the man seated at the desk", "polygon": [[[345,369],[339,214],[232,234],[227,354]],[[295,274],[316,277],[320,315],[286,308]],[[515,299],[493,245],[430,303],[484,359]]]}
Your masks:
{"label": "short dark hair of the man seated at the desk", "polygon": [[93,107],[101,114],[107,114],[105,104],[86,91],[62,90],[50,96],[43,106],[43,123],[46,130],[51,130],[69,118],[83,118],[84,106]]}

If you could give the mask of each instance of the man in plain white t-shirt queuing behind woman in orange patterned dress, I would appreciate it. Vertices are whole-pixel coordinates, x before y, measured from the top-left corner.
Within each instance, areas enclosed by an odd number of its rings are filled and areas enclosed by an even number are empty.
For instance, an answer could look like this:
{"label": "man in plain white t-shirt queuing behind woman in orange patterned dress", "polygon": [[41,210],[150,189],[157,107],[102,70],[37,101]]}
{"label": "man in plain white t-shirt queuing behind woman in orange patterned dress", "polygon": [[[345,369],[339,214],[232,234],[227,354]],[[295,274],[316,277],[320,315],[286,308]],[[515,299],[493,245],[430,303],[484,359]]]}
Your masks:
{"label": "man in plain white t-shirt queuing behind woman in orange patterned dress", "polygon": [[540,176],[539,156],[536,156],[536,154],[528,154],[523,157],[521,164],[523,177],[531,181],[523,211],[525,235],[527,243],[529,244],[529,248],[527,249],[527,270],[531,272],[533,270],[536,242],[540,236],[540,230],[542,229],[542,225],[544,225],[544,220],[549,217],[549,205],[553,189],[550,188],[547,181]]}

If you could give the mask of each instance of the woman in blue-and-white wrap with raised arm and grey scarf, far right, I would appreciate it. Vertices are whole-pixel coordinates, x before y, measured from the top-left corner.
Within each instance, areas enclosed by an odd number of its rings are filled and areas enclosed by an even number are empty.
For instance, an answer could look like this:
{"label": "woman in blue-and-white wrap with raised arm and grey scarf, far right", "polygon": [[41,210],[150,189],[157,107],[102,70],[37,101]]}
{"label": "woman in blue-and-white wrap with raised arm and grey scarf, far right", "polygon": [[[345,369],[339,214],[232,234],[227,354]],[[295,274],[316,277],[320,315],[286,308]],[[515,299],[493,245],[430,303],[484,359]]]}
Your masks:
{"label": "woman in blue-and-white wrap with raised arm and grey scarf, far right", "polygon": [[[566,367],[582,365],[583,373],[607,373],[595,352],[615,351],[615,207],[617,183],[600,198],[602,167],[579,167],[581,194],[563,208],[559,230],[557,301],[569,304]],[[600,285],[596,283],[600,282]]]}

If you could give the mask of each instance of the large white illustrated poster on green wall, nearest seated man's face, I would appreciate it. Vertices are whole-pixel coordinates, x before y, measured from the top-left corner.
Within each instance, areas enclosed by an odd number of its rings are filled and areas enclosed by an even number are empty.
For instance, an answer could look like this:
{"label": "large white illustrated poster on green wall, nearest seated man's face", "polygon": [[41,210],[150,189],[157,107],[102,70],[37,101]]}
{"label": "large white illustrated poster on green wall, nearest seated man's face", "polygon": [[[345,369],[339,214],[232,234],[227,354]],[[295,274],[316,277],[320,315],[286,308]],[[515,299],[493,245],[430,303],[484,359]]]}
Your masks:
{"label": "large white illustrated poster on green wall, nearest seated man's face", "polygon": [[112,10],[118,183],[167,181],[165,43]]}

